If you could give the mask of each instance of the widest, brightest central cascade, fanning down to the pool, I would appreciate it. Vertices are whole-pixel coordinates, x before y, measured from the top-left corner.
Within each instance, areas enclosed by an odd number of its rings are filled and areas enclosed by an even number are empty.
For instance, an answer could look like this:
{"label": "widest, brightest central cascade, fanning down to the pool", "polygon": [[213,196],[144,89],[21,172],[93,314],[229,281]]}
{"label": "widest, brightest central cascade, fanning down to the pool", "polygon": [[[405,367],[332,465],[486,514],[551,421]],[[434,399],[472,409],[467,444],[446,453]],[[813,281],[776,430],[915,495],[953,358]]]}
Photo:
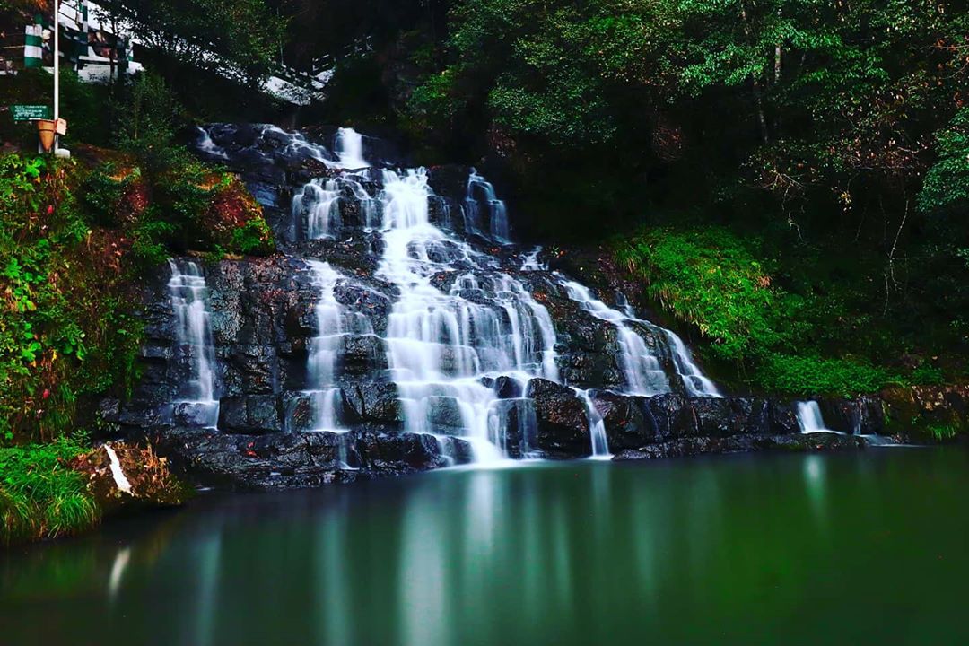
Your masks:
{"label": "widest, brightest central cascade, fanning down to the pool", "polygon": [[[423,169],[384,170],[383,185],[378,276],[400,292],[386,343],[405,428],[434,434],[448,426],[479,461],[500,459],[505,440],[489,422],[498,397],[483,378],[557,380],[551,318],[490,257],[430,223]],[[458,266],[465,270],[458,274]],[[440,273],[453,276],[447,292],[430,282]]]}

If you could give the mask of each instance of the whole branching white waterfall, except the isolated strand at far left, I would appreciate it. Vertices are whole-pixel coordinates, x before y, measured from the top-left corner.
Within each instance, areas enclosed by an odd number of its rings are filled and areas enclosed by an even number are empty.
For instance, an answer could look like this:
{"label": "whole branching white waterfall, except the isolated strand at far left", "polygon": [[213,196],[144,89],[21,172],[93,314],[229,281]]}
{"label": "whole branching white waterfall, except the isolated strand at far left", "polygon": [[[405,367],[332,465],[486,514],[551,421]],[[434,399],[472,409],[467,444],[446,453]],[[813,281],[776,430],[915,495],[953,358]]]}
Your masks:
{"label": "whole branching white waterfall, except the isolated strand at far left", "polygon": [[[221,128],[231,133],[233,127]],[[284,172],[298,168],[307,157],[330,169],[297,190],[291,219],[280,230],[288,232],[281,241],[288,245],[288,253],[297,259],[306,253],[320,258],[305,264],[315,290],[315,336],[307,343],[302,397],[288,400],[297,403],[287,409],[284,427],[296,428],[296,407],[308,398],[310,430],[342,437],[347,429],[356,429],[361,411],[354,408],[357,416],[351,416],[350,407],[369,405],[361,398],[370,396],[361,394],[358,386],[362,361],[370,371],[366,374],[372,375],[365,378],[367,383],[386,385],[384,380],[389,379],[399,402],[393,409],[397,413],[381,413],[391,416],[380,417],[378,426],[402,419],[404,431],[435,437],[440,453],[454,461],[466,459],[469,451],[480,462],[541,456],[538,409],[529,393],[536,379],[562,383],[555,326],[544,303],[557,303],[558,309],[552,311],[561,311],[568,302],[563,290],[578,304],[566,307],[568,316],[580,309],[615,327],[623,379],[618,394],[669,392],[675,372],[687,394],[719,396],[672,332],[636,318],[628,303],[620,305],[623,311],[612,309],[588,288],[550,273],[540,260],[540,248],[516,250],[509,241],[504,201],[474,169],[467,175],[463,195],[449,170],[435,175],[436,182],[453,187],[451,193],[438,196],[425,169],[370,167],[364,138],[352,129],[337,131],[332,152],[274,126],[254,127],[244,138],[216,134],[214,139],[203,138],[203,152],[218,155],[228,150],[231,161],[236,153],[247,160],[271,151],[271,159],[279,160]],[[240,139],[245,141],[241,147]],[[279,194],[272,193],[265,176],[255,181],[266,191],[268,203],[275,204]],[[453,222],[451,214],[458,212],[453,204],[459,206],[463,221]],[[461,239],[452,225],[476,243],[484,238],[489,253]],[[322,242],[303,244],[318,240]],[[359,249],[372,254],[372,260],[357,255]],[[357,284],[354,274],[365,285]],[[358,295],[353,295],[357,288]],[[368,291],[379,297],[367,300],[359,295]],[[337,293],[345,297],[338,300]],[[370,319],[359,314],[365,307],[380,308],[373,319],[380,329],[379,342]],[[356,335],[373,338],[350,343]],[[343,373],[341,353],[351,346],[358,353],[353,359],[356,372]],[[371,357],[386,354],[386,371],[383,357],[359,358],[364,347]],[[547,385],[535,388],[549,392]],[[592,455],[608,457],[606,426],[595,404],[597,389],[572,389],[585,408]],[[342,459],[346,462],[345,452]]]}

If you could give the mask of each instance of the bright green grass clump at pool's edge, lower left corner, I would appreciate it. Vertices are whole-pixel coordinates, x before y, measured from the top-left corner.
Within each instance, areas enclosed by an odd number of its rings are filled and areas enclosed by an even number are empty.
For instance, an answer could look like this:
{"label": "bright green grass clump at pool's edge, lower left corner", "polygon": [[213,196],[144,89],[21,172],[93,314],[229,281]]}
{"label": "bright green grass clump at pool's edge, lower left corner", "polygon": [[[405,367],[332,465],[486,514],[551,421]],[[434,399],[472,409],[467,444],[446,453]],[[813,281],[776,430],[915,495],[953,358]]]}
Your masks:
{"label": "bright green grass clump at pool's edge, lower left corner", "polygon": [[67,466],[86,438],[0,447],[0,543],[77,533],[100,519],[85,478]]}

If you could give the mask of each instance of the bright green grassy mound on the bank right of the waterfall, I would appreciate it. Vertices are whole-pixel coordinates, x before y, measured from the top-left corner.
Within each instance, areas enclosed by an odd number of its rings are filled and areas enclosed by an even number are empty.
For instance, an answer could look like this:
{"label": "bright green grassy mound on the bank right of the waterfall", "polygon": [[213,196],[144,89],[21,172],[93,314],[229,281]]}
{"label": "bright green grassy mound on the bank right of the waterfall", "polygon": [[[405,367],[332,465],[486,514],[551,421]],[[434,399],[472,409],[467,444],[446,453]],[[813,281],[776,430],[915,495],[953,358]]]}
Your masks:
{"label": "bright green grassy mound on the bank right of the waterfall", "polygon": [[922,364],[903,376],[878,352],[859,354],[879,346],[858,339],[857,322],[832,294],[777,286],[772,273],[779,266],[758,258],[758,244],[722,228],[651,229],[617,241],[614,249],[649,298],[700,330],[709,341],[703,354],[739,366],[749,385],[798,396],[852,396],[943,381],[935,366]]}

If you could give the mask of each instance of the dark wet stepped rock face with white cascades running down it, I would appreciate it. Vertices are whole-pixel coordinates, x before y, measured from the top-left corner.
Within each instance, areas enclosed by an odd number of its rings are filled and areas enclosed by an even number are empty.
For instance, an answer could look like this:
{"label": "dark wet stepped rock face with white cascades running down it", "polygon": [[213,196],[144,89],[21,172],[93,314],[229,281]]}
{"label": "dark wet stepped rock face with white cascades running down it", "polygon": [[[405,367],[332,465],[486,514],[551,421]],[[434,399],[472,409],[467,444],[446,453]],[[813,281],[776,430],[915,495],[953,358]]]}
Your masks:
{"label": "dark wet stepped rock face with white cascades running down it", "polygon": [[311,486],[602,443],[621,458],[861,446],[884,423],[874,402],[828,402],[852,435],[805,436],[790,402],[723,396],[619,292],[583,292],[512,244],[471,169],[398,172],[377,142],[272,127],[212,127],[200,154],[241,173],[279,251],[205,263],[191,293],[161,270],[141,384],[102,412],[197,479]]}

